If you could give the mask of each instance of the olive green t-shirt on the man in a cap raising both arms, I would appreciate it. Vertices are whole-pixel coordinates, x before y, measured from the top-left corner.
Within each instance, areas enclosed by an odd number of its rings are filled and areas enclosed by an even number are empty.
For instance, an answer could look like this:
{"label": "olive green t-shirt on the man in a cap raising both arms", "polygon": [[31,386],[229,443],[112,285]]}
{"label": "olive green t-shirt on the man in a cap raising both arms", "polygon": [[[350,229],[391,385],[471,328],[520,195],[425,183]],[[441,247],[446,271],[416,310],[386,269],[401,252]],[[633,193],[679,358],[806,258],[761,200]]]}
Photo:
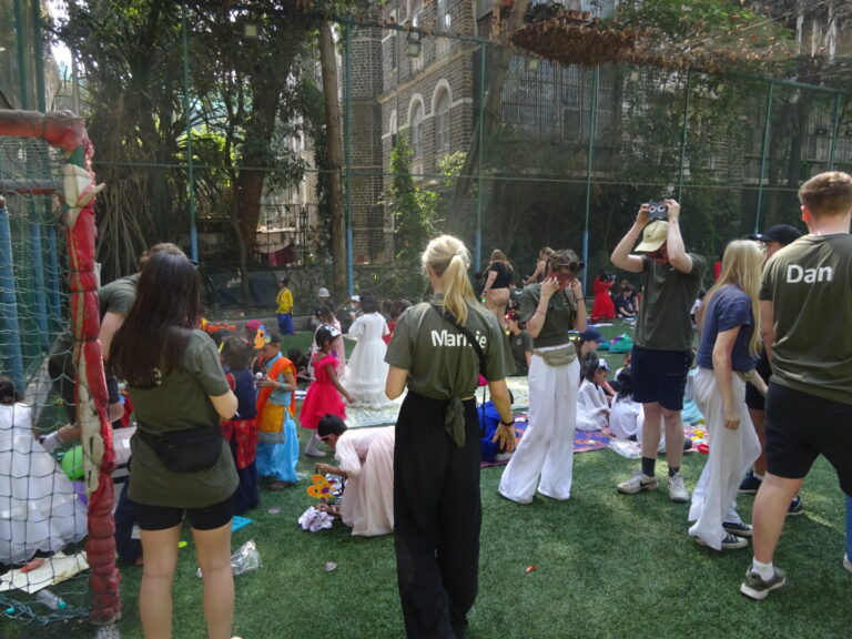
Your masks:
{"label": "olive green t-shirt on the man in a cap raising both arms", "polygon": [[690,351],[696,303],[707,268],[707,260],[689,253],[692,271],[681,273],[670,264],[657,264],[642,255],[642,302],[636,323],[633,344],[655,351]]}

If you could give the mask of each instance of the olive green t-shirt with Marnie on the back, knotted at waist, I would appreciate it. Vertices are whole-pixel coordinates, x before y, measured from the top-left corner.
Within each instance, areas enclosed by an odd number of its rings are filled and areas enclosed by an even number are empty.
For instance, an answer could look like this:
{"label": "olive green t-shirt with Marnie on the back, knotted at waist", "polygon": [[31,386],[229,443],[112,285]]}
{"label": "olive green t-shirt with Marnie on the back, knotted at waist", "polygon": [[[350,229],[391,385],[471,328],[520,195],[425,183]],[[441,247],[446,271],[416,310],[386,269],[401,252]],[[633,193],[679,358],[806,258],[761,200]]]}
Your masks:
{"label": "olive green t-shirt with Marnie on the back, knotted at waist", "polygon": [[[435,301],[440,297],[436,296]],[[467,305],[465,328],[485,354],[485,377],[497,381],[514,371],[506,337],[497,318],[484,306]],[[402,314],[387,345],[385,362],[408,371],[408,390],[433,399],[471,397],[479,374],[479,356],[467,338],[429,303]]]}

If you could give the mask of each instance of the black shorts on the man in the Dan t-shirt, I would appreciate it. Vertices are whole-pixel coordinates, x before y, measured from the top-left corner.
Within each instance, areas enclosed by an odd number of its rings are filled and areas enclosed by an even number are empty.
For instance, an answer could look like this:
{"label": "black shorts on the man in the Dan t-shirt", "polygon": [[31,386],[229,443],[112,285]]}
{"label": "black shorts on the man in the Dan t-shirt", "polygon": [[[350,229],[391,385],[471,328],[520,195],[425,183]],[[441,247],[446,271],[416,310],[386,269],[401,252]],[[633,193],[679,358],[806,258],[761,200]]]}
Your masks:
{"label": "black shorts on the man in the Dan t-shirt", "polygon": [[765,428],[772,475],[801,479],[822,455],[838,471],[840,487],[852,495],[852,404],[770,383]]}

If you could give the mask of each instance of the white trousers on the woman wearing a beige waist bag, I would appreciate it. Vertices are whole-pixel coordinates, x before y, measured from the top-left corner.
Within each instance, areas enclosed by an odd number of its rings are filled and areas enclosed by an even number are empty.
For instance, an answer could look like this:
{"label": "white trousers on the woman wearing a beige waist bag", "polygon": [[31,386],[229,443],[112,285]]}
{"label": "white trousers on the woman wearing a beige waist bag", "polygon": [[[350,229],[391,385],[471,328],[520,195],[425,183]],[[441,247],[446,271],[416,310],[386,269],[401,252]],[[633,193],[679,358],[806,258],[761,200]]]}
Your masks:
{"label": "white trousers on the woman wearing a beige waist bag", "polygon": [[538,491],[552,499],[571,496],[574,432],[580,362],[548,366],[532,355],[529,365],[529,424],[518,449],[503,473],[498,491],[529,504]]}

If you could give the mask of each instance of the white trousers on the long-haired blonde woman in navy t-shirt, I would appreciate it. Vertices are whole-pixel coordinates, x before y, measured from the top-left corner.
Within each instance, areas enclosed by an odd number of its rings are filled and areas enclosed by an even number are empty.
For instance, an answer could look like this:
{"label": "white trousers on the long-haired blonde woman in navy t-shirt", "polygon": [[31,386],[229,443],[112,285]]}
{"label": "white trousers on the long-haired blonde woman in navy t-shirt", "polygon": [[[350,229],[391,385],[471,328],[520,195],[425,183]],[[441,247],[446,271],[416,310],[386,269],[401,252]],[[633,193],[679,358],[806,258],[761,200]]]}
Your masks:
{"label": "white trousers on the long-haired blonde woman in navy t-shirt", "polygon": [[726,532],[722,521],[742,521],[737,513],[737,490],[746,471],[760,455],[760,442],[746,406],[746,382],[732,374],[733,400],[740,415],[736,430],[724,427],[722,396],[716,375],[699,368],[696,375],[696,403],[704,415],[710,439],[708,456],[689,508],[689,534],[700,537],[711,548],[722,549]]}

